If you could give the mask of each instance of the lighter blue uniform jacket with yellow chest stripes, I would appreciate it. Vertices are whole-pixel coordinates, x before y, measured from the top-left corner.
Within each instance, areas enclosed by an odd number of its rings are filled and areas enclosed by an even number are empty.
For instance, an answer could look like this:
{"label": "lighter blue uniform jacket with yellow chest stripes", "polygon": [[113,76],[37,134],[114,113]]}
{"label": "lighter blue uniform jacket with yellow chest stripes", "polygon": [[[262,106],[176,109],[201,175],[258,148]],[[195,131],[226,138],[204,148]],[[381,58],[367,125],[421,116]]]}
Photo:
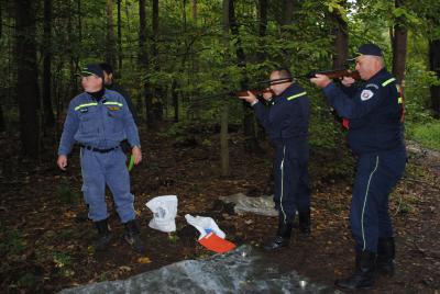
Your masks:
{"label": "lighter blue uniform jacket with yellow chest stripes", "polygon": [[84,92],[70,101],[58,155],[68,155],[75,143],[107,149],[124,139],[131,146],[141,145],[125,99],[107,89],[99,101]]}

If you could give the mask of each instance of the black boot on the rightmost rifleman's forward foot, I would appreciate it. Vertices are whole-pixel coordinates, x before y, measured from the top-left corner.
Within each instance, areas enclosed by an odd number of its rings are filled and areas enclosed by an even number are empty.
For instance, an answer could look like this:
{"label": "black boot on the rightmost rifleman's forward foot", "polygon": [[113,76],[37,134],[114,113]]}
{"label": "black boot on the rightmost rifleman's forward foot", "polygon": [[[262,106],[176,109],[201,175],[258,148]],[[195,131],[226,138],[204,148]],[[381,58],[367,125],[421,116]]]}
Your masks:
{"label": "black boot on the rightmost rifleman's forward foot", "polygon": [[374,285],[376,253],[370,251],[356,252],[356,269],[353,275],[337,280],[336,285],[346,290],[370,289]]}

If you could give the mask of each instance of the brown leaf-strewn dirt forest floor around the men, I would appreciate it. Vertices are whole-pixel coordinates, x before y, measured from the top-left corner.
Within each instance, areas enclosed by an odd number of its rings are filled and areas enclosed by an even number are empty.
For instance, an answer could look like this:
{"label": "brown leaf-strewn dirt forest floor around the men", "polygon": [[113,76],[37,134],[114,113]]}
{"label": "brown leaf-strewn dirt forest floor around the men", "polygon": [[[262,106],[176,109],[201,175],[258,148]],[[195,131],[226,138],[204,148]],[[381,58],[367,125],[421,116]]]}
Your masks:
{"label": "brown leaf-strewn dirt forest floor around the men", "polygon": [[[139,213],[146,256],[133,252],[121,239],[123,226],[111,208],[111,248],[96,253],[91,223],[81,218],[78,150],[69,158],[68,171],[55,166],[55,150],[45,150],[35,167],[19,160],[11,146],[18,138],[0,139],[0,289],[4,293],[53,293],[78,284],[125,279],[184,259],[212,253],[197,244],[198,234],[184,215],[211,216],[238,245],[260,248],[276,229],[276,218],[237,215],[218,197],[270,190],[272,148],[244,150],[239,134],[230,139],[231,174],[221,177],[219,139],[216,132],[180,140],[142,132],[144,161],[132,171],[132,191]],[[338,167],[341,155],[312,148],[312,234],[297,233],[290,247],[271,253],[283,267],[331,285],[350,273],[353,242],[348,227],[352,162]],[[157,195],[178,196],[177,233],[164,234],[147,224],[152,213],[144,205]],[[397,271],[380,278],[371,293],[440,292],[440,161],[426,155],[411,156],[405,179],[391,200],[396,229]],[[265,253],[267,255],[267,253]],[[370,292],[369,292],[370,293]]]}

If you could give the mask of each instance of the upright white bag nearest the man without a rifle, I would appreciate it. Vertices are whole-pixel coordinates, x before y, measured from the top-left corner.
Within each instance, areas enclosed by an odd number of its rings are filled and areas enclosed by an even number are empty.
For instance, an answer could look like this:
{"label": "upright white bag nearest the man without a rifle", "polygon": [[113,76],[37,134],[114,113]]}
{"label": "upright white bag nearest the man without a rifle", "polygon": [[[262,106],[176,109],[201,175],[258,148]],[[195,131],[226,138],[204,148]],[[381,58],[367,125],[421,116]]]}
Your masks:
{"label": "upright white bag nearest the man without a rifle", "polygon": [[169,233],[176,230],[177,196],[157,196],[145,203],[153,212],[153,218],[148,226],[161,231]]}

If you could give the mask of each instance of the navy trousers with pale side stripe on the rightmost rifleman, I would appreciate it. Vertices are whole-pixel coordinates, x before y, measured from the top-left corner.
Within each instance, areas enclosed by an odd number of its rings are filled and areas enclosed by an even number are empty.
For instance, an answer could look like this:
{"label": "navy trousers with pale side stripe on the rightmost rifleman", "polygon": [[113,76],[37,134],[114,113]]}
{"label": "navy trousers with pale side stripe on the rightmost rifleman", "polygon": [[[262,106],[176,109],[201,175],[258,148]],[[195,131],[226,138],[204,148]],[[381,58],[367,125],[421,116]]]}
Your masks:
{"label": "navy trousers with pale side stripe on the rightmost rifleman", "polygon": [[350,225],[358,251],[377,252],[377,239],[393,237],[388,197],[403,177],[405,147],[358,158]]}

